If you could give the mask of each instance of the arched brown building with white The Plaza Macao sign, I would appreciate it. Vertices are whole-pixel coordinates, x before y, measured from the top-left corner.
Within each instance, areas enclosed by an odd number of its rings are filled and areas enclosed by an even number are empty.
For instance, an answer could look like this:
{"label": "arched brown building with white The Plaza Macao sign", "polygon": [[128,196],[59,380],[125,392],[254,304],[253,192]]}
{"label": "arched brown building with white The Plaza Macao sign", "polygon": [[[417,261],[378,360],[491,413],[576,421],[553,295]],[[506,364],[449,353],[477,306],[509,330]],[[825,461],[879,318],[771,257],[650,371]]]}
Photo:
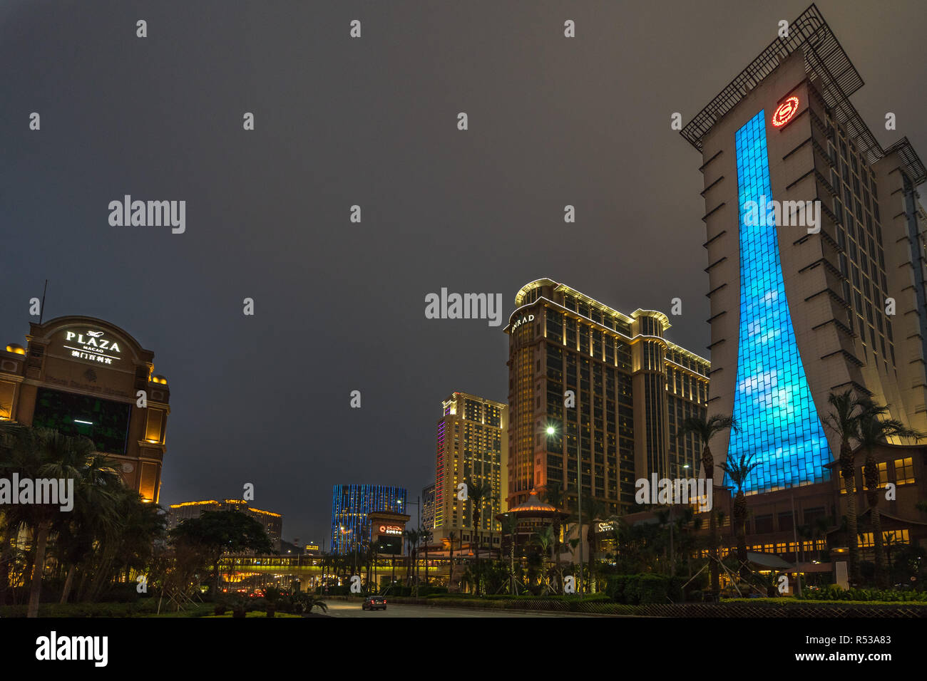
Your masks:
{"label": "arched brown building with white The Plaza Macao sign", "polygon": [[154,353],[93,317],[32,323],[27,346],[0,353],[0,420],[84,435],[157,502],[170,389]]}

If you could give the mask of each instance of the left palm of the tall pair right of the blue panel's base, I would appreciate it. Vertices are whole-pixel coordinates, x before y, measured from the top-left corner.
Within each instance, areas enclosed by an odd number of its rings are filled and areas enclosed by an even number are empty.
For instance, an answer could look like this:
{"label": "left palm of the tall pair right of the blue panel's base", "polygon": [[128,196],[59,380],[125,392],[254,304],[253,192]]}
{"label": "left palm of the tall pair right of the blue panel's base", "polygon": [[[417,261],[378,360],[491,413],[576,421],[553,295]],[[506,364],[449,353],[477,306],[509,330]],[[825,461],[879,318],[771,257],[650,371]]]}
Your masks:
{"label": "left palm of the tall pair right of the blue panel's base", "polygon": [[856,461],[853,454],[853,440],[859,440],[859,420],[872,408],[867,398],[859,398],[852,390],[832,393],[827,397],[831,403],[831,413],[822,421],[840,437],[840,474],[844,478],[846,490],[846,536],[849,544],[849,582],[850,586],[859,584],[859,547],[857,544],[857,483]]}

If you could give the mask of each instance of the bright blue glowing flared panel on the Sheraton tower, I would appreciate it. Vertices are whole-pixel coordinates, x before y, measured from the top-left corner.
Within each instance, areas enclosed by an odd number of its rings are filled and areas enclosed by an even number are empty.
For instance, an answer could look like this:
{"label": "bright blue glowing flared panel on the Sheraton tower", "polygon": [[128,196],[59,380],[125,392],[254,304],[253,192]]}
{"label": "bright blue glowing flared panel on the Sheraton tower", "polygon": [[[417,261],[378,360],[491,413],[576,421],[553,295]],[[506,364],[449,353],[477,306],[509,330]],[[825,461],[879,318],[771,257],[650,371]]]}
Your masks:
{"label": "bright blue glowing flared panel on the Sheraton tower", "polygon": [[[754,455],[745,492],[829,479],[831,450],[811,398],[795,342],[774,221],[750,226],[748,202],[772,199],[766,116],[760,111],[735,136],[740,205],[741,321],[734,418],[728,460]],[[730,485],[730,481],[726,480]]]}

